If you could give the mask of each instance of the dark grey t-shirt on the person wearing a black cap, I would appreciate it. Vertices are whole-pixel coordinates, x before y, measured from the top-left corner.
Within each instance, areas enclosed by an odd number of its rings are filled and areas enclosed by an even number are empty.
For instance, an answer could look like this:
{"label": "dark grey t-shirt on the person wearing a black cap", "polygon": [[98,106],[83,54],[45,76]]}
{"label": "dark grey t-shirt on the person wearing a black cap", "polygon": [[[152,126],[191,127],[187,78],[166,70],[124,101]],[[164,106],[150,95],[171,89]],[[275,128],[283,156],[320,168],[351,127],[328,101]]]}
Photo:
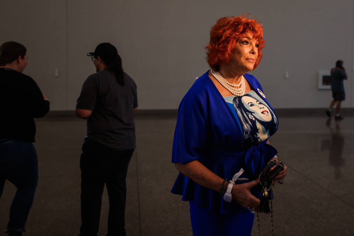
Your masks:
{"label": "dark grey t-shirt on the person wearing a black cap", "polygon": [[76,109],[92,110],[87,137],[116,150],[135,148],[133,108],[138,107],[136,84],[124,73],[125,85],[113,72],[103,69],[87,77]]}

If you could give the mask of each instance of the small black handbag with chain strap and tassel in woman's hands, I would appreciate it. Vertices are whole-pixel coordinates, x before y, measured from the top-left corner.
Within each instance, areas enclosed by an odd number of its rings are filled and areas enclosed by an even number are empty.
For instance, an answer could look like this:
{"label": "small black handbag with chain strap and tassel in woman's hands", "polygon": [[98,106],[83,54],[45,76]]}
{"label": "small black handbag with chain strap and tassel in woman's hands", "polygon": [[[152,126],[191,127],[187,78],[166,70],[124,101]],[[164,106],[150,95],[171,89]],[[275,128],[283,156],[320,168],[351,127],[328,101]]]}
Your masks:
{"label": "small black handbag with chain strap and tassel in woman's hands", "polygon": [[[261,203],[259,205],[259,212],[263,213],[271,213],[270,215],[270,221],[272,223],[272,235],[274,235],[273,232],[273,182],[275,176],[280,172],[284,170],[284,164],[281,161],[269,161],[268,164],[264,167],[263,171],[259,174],[259,185],[257,187],[261,191],[261,197],[259,200],[261,200]],[[269,200],[270,198],[270,206],[269,208]],[[258,212],[257,212],[257,225],[258,225],[258,236],[259,234],[259,217],[258,217]]]}

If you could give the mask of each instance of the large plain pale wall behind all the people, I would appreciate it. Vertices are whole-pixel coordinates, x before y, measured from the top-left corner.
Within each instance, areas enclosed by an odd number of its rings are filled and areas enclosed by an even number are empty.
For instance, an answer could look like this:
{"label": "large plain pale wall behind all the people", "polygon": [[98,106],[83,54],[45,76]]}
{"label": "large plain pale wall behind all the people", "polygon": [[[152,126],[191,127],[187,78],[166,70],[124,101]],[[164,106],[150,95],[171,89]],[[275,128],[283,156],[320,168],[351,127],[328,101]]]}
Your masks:
{"label": "large plain pale wall behind all the people", "polygon": [[95,73],[86,53],[101,42],[117,47],[138,86],[140,109],[177,109],[195,77],[209,69],[203,46],[212,25],[246,12],[263,23],[263,59],[251,74],[274,108],[327,107],[331,93],[318,90],[317,73],[337,59],[349,77],[343,107],[354,107],[354,0],[6,1],[0,43],[27,47],[24,73],[51,100],[51,110],[75,109],[82,83]]}

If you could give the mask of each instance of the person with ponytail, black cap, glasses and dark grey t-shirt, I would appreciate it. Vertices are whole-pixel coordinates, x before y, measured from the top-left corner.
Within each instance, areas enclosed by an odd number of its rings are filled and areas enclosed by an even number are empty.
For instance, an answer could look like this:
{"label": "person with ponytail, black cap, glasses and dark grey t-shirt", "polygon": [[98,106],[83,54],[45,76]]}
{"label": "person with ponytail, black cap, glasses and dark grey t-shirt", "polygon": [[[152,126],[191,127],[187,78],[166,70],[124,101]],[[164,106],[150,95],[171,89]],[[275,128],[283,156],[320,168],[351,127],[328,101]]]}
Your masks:
{"label": "person with ponytail, black cap, glasses and dark grey t-shirt", "polygon": [[124,73],[112,44],[99,44],[87,56],[92,57],[97,73],[87,77],[76,105],[76,115],[87,119],[80,158],[80,236],[97,235],[104,184],[109,196],[107,236],[126,235],[125,179],[135,149],[136,84]]}

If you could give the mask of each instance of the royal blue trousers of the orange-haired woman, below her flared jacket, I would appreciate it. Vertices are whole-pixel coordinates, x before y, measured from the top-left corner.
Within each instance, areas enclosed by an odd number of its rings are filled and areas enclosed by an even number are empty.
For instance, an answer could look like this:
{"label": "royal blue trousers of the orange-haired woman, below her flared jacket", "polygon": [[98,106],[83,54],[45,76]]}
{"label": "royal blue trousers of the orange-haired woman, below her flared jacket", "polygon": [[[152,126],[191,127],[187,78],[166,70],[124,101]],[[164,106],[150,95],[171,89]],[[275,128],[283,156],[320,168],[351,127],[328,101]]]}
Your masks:
{"label": "royal blue trousers of the orange-haired woman, below her flared jacket", "polygon": [[251,212],[220,214],[189,202],[193,236],[250,236],[255,215]]}

